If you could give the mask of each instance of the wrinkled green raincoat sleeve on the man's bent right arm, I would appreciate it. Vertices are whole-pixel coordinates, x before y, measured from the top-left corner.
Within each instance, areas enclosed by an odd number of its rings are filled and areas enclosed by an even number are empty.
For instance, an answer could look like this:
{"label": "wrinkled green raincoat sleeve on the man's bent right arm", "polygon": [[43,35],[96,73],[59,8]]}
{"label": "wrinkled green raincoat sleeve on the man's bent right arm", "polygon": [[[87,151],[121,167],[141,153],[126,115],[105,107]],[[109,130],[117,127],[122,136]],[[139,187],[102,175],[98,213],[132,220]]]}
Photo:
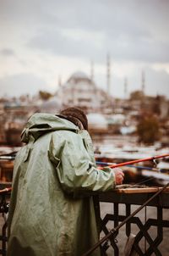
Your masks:
{"label": "wrinkled green raincoat sleeve on the man's bent right arm", "polygon": [[[97,170],[83,139],[73,132],[67,139],[52,136],[50,155],[57,177],[66,192],[105,192],[115,186],[114,171]],[[56,147],[57,145],[57,147]]]}

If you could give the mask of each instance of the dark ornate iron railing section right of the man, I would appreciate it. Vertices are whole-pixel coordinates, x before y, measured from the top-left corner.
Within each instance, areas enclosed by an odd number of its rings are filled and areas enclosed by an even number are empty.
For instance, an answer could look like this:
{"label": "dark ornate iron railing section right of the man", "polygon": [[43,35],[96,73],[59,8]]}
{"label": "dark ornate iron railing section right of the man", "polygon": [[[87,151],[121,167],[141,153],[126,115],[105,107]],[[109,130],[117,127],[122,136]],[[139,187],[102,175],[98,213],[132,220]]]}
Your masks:
{"label": "dark ornate iron railing section right of the man", "polygon": [[[100,201],[106,203],[112,203],[112,213],[106,214],[101,218],[101,232],[107,235],[110,231],[110,226],[108,224],[112,222],[112,226],[116,227],[122,223],[130,214],[132,214],[132,208],[142,205],[150,196],[152,192],[133,192],[133,193],[121,193],[121,192],[106,192],[101,194]],[[120,213],[123,205],[123,214]],[[151,208],[151,212],[156,212],[156,216],[151,216],[147,214],[148,208]],[[153,210],[152,210],[153,209]],[[134,237],[134,243],[132,244],[131,254],[126,255],[168,255],[169,243],[159,248],[161,242],[167,236],[167,232],[164,234],[164,228],[169,228],[169,192],[163,192],[158,197],[154,198],[148,206],[144,209],[144,217],[142,213],[142,218],[140,216],[134,216],[128,220],[125,224],[125,234],[123,234],[123,240],[127,241],[133,232],[135,233],[135,226],[137,226],[137,233]],[[163,212],[167,212],[167,220],[163,220]],[[150,229],[154,229],[154,236],[150,236]],[[111,227],[112,228],[112,227]],[[134,230],[134,231],[133,231]],[[113,255],[122,255],[122,250],[118,248],[118,231],[116,231],[111,237],[109,242],[105,242],[101,245],[102,255],[112,255],[109,254],[110,248],[112,248]],[[125,236],[124,236],[125,235]],[[123,242],[123,247],[125,242]],[[129,245],[131,246],[131,245]],[[108,253],[108,254],[106,254]],[[133,253],[133,254],[132,254]],[[134,254],[135,253],[135,254]]]}

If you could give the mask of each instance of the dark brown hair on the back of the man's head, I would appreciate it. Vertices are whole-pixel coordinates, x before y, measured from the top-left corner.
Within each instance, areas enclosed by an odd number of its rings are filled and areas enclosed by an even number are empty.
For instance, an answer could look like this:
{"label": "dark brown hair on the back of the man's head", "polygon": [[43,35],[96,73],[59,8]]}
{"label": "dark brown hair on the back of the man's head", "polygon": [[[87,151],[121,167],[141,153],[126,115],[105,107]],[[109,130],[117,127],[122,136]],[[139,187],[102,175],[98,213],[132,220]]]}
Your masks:
{"label": "dark brown hair on the back of the man's head", "polygon": [[[88,120],[85,115],[85,112],[82,109],[79,109],[79,108],[63,109],[60,112],[60,114],[63,115],[64,118],[72,121],[73,123],[76,119],[79,120],[82,123],[82,125],[84,126],[84,129],[88,130]],[[77,124],[75,124],[75,125],[77,125]]]}

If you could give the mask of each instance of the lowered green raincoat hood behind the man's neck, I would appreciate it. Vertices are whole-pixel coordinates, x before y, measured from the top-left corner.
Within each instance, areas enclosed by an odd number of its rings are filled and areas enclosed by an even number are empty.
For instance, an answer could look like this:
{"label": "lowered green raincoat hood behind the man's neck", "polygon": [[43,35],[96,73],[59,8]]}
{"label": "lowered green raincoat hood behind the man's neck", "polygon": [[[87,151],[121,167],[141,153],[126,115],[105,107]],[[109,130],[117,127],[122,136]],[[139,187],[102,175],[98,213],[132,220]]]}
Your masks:
{"label": "lowered green raincoat hood behind the man's neck", "polygon": [[33,114],[21,133],[21,142],[28,143],[32,138],[35,141],[48,132],[58,130],[78,132],[79,127],[54,114]]}

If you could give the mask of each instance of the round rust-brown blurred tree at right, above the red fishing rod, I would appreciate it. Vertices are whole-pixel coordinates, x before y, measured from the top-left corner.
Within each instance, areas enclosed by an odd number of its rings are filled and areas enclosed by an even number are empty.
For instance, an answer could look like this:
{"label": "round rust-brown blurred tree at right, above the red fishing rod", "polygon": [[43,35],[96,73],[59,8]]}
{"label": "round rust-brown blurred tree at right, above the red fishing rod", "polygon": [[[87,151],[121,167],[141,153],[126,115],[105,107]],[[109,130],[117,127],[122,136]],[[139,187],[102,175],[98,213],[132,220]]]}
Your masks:
{"label": "round rust-brown blurred tree at right, above the red fishing rod", "polygon": [[139,142],[144,144],[153,144],[160,139],[160,124],[153,115],[142,116],[137,125]]}

